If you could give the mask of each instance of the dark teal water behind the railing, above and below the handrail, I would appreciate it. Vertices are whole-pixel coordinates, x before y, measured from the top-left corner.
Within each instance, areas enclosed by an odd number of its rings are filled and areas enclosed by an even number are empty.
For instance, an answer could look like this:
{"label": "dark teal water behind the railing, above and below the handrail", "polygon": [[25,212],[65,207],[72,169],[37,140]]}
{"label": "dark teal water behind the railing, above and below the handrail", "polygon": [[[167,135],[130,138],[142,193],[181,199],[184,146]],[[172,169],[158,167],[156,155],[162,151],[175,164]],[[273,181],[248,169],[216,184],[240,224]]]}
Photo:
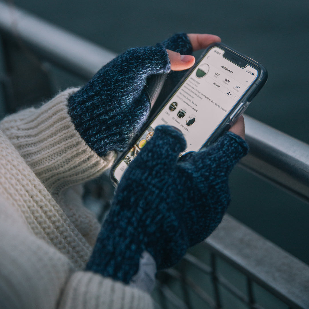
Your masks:
{"label": "dark teal water behind the railing, above and below the handrail", "polygon": [[[309,2],[15,0],[116,53],[176,32],[212,33],[262,63],[265,87],[246,113],[309,143]],[[309,264],[309,205],[236,168],[230,214]]]}

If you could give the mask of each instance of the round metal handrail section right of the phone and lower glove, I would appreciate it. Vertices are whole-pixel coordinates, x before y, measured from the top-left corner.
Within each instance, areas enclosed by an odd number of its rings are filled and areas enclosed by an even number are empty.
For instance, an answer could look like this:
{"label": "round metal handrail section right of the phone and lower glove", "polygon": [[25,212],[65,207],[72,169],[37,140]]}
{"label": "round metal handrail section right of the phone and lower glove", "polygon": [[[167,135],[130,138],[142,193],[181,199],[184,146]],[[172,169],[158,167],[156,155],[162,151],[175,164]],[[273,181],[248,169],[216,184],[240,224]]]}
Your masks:
{"label": "round metal handrail section right of the phone and lower glove", "polygon": [[250,152],[240,164],[309,203],[309,145],[244,117]]}

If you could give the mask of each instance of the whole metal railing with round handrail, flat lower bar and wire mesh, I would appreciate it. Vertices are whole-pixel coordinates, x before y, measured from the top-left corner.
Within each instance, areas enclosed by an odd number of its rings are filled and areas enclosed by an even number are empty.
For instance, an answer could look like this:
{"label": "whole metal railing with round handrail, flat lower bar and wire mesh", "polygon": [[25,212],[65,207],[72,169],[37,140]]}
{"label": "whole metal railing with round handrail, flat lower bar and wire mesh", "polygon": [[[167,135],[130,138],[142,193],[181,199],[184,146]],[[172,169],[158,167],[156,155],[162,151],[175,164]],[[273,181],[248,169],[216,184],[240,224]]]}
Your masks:
{"label": "whole metal railing with round handrail, flat lower bar and wire mesh", "polygon": [[[1,1],[0,34],[3,44],[13,42],[39,61],[48,61],[85,80],[116,56]],[[250,153],[240,165],[308,203],[309,145],[249,116],[245,121]],[[201,308],[203,304],[226,308],[226,299],[237,299],[239,306],[263,308],[263,300],[258,298],[262,289],[283,307],[309,308],[309,266],[231,216],[226,215],[199,248],[202,256],[189,253],[180,265],[159,274],[154,297],[161,307]],[[209,259],[205,262],[206,256]],[[203,279],[192,277],[196,270]],[[243,276],[242,283],[233,282],[235,272]]]}

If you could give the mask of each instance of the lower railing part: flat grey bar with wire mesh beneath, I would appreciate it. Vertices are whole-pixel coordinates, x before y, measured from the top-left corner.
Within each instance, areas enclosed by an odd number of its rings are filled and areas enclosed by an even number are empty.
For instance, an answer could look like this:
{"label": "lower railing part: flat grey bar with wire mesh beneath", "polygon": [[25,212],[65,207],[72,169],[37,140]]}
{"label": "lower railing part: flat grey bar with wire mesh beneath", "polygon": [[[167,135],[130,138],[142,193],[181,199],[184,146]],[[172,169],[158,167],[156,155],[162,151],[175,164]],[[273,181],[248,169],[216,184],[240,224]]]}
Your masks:
{"label": "lower railing part: flat grey bar with wire mesh beneath", "polygon": [[[280,308],[309,308],[308,265],[231,216],[225,215],[218,229],[197,247],[195,251],[208,255],[206,259],[204,256],[204,261],[201,261],[201,256],[197,258],[188,253],[176,269],[164,272],[159,283],[164,294],[163,303],[169,302],[179,308],[194,308],[193,299],[198,298],[199,308],[226,308],[224,298],[229,294],[231,299],[234,298],[234,303],[228,308],[246,306],[262,309],[278,304]],[[201,283],[198,272],[211,282],[208,287],[205,279]],[[236,275],[237,284],[235,272],[242,274]],[[173,280],[180,282],[181,295],[177,296]],[[192,293],[190,296],[188,289],[192,290],[194,296]],[[257,295],[259,289],[264,290],[262,296]],[[265,291],[274,296],[269,302],[265,301],[268,297]]]}

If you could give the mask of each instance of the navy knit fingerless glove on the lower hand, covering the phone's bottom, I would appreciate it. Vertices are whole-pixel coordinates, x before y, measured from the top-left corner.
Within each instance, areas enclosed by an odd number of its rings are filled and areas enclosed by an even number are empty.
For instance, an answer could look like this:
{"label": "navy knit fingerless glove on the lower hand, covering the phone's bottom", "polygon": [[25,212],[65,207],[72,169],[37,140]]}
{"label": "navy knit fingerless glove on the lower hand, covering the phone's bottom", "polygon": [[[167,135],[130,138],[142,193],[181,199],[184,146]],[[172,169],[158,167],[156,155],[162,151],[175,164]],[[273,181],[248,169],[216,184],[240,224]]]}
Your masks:
{"label": "navy knit fingerless glove on the lower hand, covering the phone's bottom", "polygon": [[229,173],[248,146],[227,132],[179,159],[185,148],[178,130],[155,129],[118,185],[87,270],[128,283],[142,252],[167,268],[214,231],[230,201]]}

